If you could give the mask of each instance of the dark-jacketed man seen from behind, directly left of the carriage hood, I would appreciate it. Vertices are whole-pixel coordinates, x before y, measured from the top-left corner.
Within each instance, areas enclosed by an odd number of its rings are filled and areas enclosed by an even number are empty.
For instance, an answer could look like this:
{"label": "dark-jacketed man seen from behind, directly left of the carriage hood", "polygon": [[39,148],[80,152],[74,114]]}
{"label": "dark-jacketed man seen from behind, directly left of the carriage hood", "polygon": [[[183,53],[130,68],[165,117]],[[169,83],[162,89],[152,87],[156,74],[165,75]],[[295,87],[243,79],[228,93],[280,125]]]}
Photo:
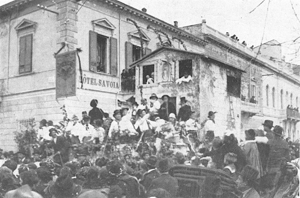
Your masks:
{"label": "dark-jacketed man seen from behind, directly left of the carriage hood", "polygon": [[172,197],[176,197],[178,191],[178,180],[169,175],[171,164],[169,159],[161,159],[156,163],[156,168],[161,176],[151,181],[148,191],[156,188],[162,188],[168,191]]}

